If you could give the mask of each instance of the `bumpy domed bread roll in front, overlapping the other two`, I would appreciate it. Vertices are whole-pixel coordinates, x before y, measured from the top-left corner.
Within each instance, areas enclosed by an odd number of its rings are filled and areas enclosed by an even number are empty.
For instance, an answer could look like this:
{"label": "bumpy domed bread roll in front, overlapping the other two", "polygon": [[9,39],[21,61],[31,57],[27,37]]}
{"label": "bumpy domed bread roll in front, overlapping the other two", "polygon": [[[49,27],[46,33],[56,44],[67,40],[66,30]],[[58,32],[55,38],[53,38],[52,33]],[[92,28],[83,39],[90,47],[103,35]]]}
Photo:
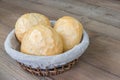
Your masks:
{"label": "bumpy domed bread roll in front, overlapping the other two", "polygon": [[56,55],[63,52],[63,42],[53,28],[38,24],[24,35],[21,52],[37,56]]}

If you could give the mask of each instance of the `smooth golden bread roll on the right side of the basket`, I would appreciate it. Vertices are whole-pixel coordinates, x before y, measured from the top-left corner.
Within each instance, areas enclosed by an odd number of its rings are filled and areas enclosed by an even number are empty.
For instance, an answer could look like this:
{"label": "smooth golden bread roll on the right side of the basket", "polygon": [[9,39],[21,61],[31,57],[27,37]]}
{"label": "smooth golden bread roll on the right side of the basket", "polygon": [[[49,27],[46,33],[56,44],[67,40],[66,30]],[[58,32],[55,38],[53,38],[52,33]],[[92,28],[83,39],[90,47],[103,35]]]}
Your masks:
{"label": "smooth golden bread roll on the right side of the basket", "polygon": [[81,41],[83,26],[73,17],[64,16],[60,18],[56,21],[54,29],[62,37],[64,51],[73,48]]}

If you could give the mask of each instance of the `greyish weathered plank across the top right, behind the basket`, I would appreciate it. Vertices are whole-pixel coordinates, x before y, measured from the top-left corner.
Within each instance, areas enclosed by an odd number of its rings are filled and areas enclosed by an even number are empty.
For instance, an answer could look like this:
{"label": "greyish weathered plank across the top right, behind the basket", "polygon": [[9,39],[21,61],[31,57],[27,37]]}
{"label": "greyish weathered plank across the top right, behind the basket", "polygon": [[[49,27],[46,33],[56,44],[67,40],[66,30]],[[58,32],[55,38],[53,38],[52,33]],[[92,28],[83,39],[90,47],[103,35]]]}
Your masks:
{"label": "greyish weathered plank across the top right, behind the basket", "polygon": [[[5,0],[6,1],[6,0]],[[40,5],[50,6],[63,11],[70,12],[75,15],[87,16],[88,18],[100,21],[102,23],[110,24],[116,27],[120,26],[120,11],[114,11],[113,9],[104,8],[102,6],[95,6],[91,4],[85,4],[80,1],[74,0],[31,0],[32,3]]]}

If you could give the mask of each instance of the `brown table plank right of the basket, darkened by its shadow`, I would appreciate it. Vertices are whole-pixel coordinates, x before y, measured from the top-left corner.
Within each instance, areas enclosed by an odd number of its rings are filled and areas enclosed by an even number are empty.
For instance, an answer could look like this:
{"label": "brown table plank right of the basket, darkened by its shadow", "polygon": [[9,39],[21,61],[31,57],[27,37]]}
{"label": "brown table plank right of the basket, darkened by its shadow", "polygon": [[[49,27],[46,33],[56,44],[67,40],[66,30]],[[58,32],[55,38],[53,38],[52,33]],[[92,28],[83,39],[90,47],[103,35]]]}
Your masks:
{"label": "brown table plank right of the basket, darkened by its shadow", "polygon": [[120,41],[101,35],[90,40],[90,46],[81,60],[120,77],[119,52]]}

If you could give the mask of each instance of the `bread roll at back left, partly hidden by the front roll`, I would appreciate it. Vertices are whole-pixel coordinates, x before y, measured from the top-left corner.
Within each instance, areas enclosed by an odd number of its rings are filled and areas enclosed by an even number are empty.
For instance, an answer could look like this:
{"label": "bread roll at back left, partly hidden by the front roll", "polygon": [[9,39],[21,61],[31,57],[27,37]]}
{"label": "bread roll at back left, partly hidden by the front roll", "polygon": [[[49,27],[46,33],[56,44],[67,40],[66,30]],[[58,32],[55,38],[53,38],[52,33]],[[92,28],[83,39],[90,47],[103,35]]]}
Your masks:
{"label": "bread roll at back left, partly hidden by the front roll", "polygon": [[42,14],[27,13],[22,15],[15,24],[15,34],[17,39],[21,42],[25,32],[38,23],[50,26],[49,19]]}

